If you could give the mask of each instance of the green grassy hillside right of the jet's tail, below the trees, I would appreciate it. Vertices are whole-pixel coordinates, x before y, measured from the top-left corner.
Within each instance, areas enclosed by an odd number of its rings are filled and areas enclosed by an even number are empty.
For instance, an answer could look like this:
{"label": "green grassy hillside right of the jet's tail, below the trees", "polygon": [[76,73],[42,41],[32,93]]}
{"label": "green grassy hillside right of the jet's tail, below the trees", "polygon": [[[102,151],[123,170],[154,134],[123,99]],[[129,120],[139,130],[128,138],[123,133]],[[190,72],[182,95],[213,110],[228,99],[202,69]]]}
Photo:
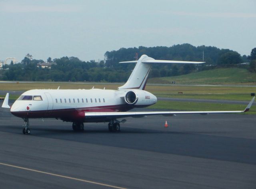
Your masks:
{"label": "green grassy hillside right of the jet's tail, below the trees", "polygon": [[151,78],[151,84],[255,84],[256,74],[242,68],[219,68],[181,76]]}

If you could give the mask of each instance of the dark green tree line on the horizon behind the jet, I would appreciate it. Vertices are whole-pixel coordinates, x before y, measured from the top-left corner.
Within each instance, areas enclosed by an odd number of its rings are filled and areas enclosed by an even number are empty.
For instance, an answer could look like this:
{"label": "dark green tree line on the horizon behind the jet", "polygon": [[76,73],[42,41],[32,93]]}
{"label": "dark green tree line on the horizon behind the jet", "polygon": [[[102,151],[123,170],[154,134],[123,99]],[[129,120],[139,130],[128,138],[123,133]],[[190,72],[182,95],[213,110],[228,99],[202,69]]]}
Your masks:
{"label": "dark green tree line on the horizon behind the jet", "polygon": [[[5,65],[0,70],[0,80],[18,81],[89,81],[89,82],[125,82],[130,76],[135,64],[118,64],[121,61],[135,60],[146,54],[158,60],[202,61],[204,65],[176,65],[154,64],[150,77],[165,77],[198,72],[212,69],[216,66],[234,66],[242,62],[251,62],[248,68],[256,72],[256,48],[250,56],[241,56],[238,52],[229,49],[219,49],[212,46],[192,46],[190,44],[174,45],[171,47],[143,47],[120,48],[104,54],[104,61],[82,61],[77,57],[48,58],[48,62],[55,62],[49,68],[38,67],[43,60],[32,59],[27,54],[18,64]],[[255,58],[255,59],[254,59]]]}

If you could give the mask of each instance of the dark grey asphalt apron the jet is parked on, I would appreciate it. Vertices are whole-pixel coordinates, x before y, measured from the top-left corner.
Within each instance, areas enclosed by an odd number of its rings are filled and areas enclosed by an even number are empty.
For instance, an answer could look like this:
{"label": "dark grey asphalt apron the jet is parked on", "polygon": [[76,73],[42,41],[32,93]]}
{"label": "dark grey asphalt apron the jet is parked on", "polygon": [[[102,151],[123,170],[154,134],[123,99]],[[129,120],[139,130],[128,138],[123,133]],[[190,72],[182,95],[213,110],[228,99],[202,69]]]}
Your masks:
{"label": "dark grey asphalt apron the jet is parked on", "polygon": [[31,119],[31,135],[8,109],[0,120],[1,188],[256,188],[256,115],[128,118],[120,133]]}

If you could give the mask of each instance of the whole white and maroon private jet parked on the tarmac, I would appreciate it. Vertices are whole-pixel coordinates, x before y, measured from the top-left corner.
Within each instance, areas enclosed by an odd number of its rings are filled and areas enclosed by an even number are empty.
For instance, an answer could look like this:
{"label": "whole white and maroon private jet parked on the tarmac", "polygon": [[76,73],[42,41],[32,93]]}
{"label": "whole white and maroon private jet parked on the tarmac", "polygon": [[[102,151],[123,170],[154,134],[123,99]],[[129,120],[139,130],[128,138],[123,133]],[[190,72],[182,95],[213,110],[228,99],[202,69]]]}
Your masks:
{"label": "whole white and maroon private jet parked on the tarmac", "polygon": [[[255,96],[246,109],[242,111],[128,111],[135,107],[148,107],[157,102],[155,95],[145,91],[148,74],[152,64],[202,64],[175,60],[155,60],[142,55],[139,60],[120,63],[136,63],[127,82],[118,90],[78,89],[78,90],[28,90],[12,104],[8,105],[9,94],[6,94],[2,107],[24,120],[24,134],[30,134],[29,119],[56,118],[72,122],[74,131],[83,131],[84,123],[107,122],[108,130],[120,131],[120,123],[125,117],[146,117],[148,115],[175,116],[176,114],[237,113],[249,111]],[[118,119],[122,119],[121,121]]]}

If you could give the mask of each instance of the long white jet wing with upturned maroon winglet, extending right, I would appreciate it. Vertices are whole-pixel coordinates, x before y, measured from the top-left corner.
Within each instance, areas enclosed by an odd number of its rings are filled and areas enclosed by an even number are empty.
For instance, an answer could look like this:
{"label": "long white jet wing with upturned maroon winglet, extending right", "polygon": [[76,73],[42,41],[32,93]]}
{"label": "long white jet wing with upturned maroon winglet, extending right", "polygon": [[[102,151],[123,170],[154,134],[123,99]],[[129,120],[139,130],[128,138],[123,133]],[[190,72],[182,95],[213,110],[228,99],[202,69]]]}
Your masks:
{"label": "long white jet wing with upturned maroon winglet, extending right", "polygon": [[122,118],[122,117],[145,117],[147,115],[166,115],[173,116],[176,114],[198,113],[207,115],[209,113],[240,113],[249,111],[255,96],[252,98],[247,107],[242,111],[126,111],[126,112],[85,112],[85,118]]}

